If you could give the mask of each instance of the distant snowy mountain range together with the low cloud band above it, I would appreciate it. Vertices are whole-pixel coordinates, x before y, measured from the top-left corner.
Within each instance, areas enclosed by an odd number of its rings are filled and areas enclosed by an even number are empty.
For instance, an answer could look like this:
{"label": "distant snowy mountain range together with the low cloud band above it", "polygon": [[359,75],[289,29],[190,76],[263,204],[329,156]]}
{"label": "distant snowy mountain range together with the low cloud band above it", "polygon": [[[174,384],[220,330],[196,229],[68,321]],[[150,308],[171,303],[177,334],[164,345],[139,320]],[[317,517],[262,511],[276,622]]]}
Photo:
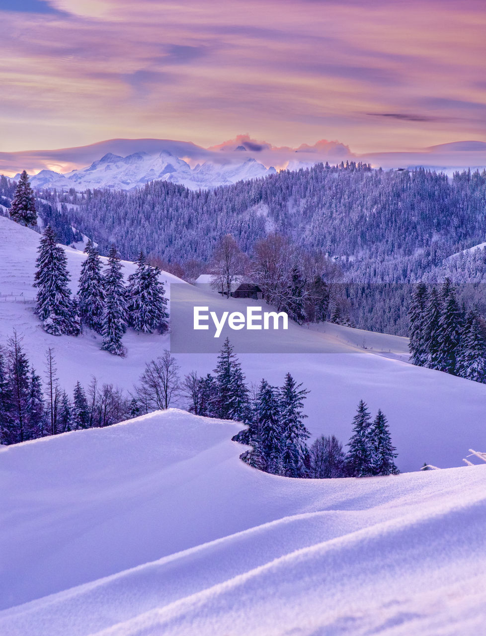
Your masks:
{"label": "distant snowy mountain range together with the low cloud band above it", "polygon": [[109,139],[78,148],[0,152],[0,172],[13,177],[27,170],[37,188],[132,190],[163,179],[198,190],[326,161],[361,161],[384,169],[420,166],[452,175],[456,170],[486,167],[486,142],[358,154],[341,142],[325,139],[296,148],[274,146],[249,135],[210,148],[172,139]]}

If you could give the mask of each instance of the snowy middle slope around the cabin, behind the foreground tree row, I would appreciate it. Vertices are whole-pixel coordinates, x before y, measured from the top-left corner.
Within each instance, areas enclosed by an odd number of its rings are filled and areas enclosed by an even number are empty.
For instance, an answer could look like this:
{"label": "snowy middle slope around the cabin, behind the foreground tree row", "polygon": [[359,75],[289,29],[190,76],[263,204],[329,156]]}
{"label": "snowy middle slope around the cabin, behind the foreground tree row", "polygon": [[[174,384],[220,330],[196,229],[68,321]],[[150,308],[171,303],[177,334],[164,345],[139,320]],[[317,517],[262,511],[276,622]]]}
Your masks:
{"label": "snowy middle slope around the cabin, behind the foreground tree row", "polygon": [[[78,380],[87,387],[93,375],[101,383],[132,389],[145,363],[169,349],[169,336],[137,335],[130,330],[123,338],[128,355],[120,358],[101,351],[101,336],[89,330],[79,338],[46,334],[32,313],[39,239],[32,230],[0,217],[0,342],[6,343],[17,329],[24,337],[27,356],[41,375],[46,349],[52,347],[60,384],[70,393]],[[85,254],[66,248],[66,255],[76,289]],[[132,263],[123,265],[126,275],[134,271]],[[167,273],[162,279],[186,286]],[[228,303],[237,310],[242,302],[214,300],[214,294],[189,285],[186,289],[188,299],[200,305],[219,303],[221,311],[228,310]],[[170,294],[170,285],[167,292]],[[188,341],[192,339],[188,344],[193,353],[176,354],[181,373],[197,370],[205,375],[214,369],[216,354],[198,349],[198,332],[183,323],[173,323],[171,329],[174,335],[182,333]],[[246,338],[245,345],[251,344],[249,332],[245,333],[223,331],[221,344],[229,335],[238,350],[241,338]],[[371,413],[381,408],[389,419],[401,471],[416,471],[424,462],[461,466],[468,448],[482,450],[486,446],[486,385],[412,366],[407,362],[406,338],[328,323],[312,329],[290,324],[288,331],[267,333],[265,344],[253,349],[259,353],[239,356],[247,380],[260,382],[264,377],[270,384],[281,385],[290,371],[297,382],[303,382],[310,390],[305,412],[313,437],[335,434],[345,443],[358,401],[364,399]],[[180,406],[184,406],[183,400]]]}

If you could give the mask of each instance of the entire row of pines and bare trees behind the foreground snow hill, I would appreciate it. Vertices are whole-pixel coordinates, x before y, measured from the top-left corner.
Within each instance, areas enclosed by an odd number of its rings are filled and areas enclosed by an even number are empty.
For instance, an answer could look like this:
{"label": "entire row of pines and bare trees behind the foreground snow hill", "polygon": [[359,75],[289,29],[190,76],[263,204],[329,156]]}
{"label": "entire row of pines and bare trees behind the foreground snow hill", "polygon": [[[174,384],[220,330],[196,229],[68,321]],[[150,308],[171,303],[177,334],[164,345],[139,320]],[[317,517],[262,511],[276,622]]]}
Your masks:
{"label": "entire row of pines and bare trees behind the foreground snow hill", "polygon": [[251,446],[242,453],[249,465],[288,477],[336,478],[396,474],[396,452],[381,411],[371,422],[361,401],[353,434],[344,452],[334,436],[316,439],[310,447],[303,401],[309,391],[290,373],[281,387],[261,380],[249,389],[242,366],[226,339],[213,374],[191,371],[179,376],[176,359],[165,350],[146,363],[132,392],[93,377],[88,389],[76,382],[72,396],[60,387],[52,349],[45,354],[44,380],[25,355],[14,332],[0,347],[0,443],[16,444],[62,432],[105,427],[184,404],[195,415],[246,424],[233,439]]}

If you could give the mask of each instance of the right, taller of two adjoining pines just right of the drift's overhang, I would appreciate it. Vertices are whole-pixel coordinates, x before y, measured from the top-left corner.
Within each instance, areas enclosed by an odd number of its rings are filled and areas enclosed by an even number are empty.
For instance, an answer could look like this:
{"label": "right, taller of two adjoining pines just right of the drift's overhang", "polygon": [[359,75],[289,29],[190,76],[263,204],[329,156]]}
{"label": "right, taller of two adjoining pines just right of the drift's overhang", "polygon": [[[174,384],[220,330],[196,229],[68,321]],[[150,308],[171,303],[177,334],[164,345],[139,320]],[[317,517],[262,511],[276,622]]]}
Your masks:
{"label": "right, taller of two adjoining pines just right of the drift's overhang", "polygon": [[310,437],[303,423],[303,400],[309,391],[301,389],[290,373],[280,389],[280,426],[282,430],[282,467],[287,477],[298,477],[306,450],[305,440]]}

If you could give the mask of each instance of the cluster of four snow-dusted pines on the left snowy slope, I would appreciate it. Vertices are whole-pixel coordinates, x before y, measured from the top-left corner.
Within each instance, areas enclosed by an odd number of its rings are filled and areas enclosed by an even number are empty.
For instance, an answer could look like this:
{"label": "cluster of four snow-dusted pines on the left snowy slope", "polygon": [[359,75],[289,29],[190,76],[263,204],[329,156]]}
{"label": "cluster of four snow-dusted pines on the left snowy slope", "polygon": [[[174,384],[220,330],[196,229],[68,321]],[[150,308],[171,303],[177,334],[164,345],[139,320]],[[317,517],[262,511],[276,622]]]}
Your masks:
{"label": "cluster of four snow-dusted pines on the left snowy slope", "polygon": [[35,314],[52,335],[80,335],[83,325],[102,335],[102,346],[123,356],[121,342],[128,327],[144,333],[165,333],[169,328],[167,298],[160,270],[148,265],[141,252],[137,269],[123,282],[115,245],[108,254],[104,272],[95,245],[88,241],[88,256],[81,265],[78,294],[71,297],[64,249],[57,245],[54,230],[47,226],[40,240],[34,287],[38,288]]}

